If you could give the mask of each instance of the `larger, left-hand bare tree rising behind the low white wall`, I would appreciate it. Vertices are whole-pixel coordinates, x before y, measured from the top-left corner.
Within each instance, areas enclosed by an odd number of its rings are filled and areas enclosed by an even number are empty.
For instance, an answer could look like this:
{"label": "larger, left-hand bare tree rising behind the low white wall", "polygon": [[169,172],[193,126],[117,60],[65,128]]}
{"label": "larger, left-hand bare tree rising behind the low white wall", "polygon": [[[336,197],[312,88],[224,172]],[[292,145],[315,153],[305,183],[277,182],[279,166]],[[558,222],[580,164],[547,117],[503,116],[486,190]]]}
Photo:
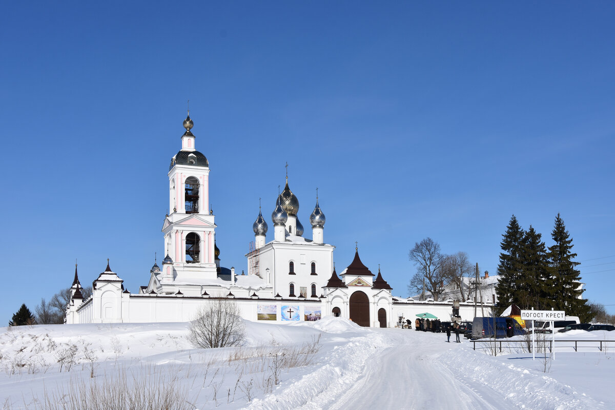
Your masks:
{"label": "larger, left-hand bare tree rising behind the low white wall", "polygon": [[410,261],[415,263],[416,274],[410,280],[408,292],[425,290],[437,301],[445,286],[446,277],[442,269],[444,255],[440,252],[440,244],[431,238],[416,242],[408,253]]}

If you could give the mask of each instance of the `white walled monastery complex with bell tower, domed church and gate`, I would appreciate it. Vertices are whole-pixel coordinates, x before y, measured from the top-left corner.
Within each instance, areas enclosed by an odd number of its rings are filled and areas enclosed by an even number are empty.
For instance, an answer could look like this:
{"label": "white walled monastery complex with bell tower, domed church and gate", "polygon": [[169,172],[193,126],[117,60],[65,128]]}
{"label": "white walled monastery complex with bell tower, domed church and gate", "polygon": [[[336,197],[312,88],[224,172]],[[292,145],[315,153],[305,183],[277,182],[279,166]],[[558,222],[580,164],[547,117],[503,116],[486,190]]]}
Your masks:
{"label": "white walled monastery complex with bell tower, domed church and gate", "polygon": [[[169,167],[169,209],[164,219],[165,258],[150,270],[149,282],[138,293],[109,263],[92,283],[92,296],[83,298],[75,269],[65,323],[141,323],[192,320],[210,298],[233,299],[242,317],[253,321],[318,320],[327,315],[348,318],[361,326],[393,327],[401,317],[414,320],[429,312],[450,320],[453,301],[415,301],[392,296],[380,269],[374,275],[359,258],[338,276],[333,263],[335,246],[325,243],[325,215],[318,197],[309,217],[312,239],[304,237],[299,200],[288,187],[278,195],[272,211],[273,239],[267,242],[268,223],[259,211],[253,224],[255,240],[247,257],[247,275],[220,266],[215,243],[215,215],[208,210],[209,163],[196,151],[190,116],[184,120],[181,149]],[[220,227],[224,229],[224,227]],[[350,258],[348,258],[350,259]],[[473,302],[461,302],[463,320],[474,317]],[[486,304],[490,309],[492,305]]]}

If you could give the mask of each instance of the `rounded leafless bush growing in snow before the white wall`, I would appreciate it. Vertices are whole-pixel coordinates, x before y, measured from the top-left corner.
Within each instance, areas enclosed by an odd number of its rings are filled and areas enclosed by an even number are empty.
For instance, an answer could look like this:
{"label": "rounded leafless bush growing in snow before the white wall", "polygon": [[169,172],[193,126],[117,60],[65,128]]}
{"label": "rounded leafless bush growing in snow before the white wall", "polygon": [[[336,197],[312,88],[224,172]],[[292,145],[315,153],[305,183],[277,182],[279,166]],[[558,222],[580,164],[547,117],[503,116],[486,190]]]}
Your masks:
{"label": "rounded leafless bush growing in snow before the white wall", "polygon": [[235,301],[210,298],[190,322],[188,341],[202,349],[239,345],[245,337],[240,313]]}

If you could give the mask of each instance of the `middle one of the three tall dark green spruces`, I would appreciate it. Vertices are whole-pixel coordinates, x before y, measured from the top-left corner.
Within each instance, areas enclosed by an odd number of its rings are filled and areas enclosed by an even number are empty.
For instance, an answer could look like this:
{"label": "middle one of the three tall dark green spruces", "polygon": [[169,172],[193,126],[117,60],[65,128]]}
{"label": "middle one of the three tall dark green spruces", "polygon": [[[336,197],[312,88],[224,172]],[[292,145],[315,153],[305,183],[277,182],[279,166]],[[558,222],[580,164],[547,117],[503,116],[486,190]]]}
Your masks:
{"label": "middle one of the three tall dark green spruces", "polygon": [[518,306],[522,309],[549,309],[552,306],[547,251],[541,237],[531,225],[523,236],[520,258],[522,274],[517,283]]}

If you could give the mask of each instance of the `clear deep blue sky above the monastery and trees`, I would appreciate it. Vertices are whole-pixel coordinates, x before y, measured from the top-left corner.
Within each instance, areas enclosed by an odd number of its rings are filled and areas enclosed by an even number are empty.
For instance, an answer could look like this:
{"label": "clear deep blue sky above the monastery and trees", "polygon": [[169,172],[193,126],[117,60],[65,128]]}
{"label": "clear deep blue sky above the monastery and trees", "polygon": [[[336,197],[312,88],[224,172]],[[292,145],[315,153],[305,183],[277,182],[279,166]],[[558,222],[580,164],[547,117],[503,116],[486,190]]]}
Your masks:
{"label": "clear deep blue sky above the monastery and trees", "polygon": [[224,266],[288,162],[305,236],[319,187],[336,265],[357,241],[394,294],[425,237],[493,273],[511,215],[551,245],[559,212],[615,313],[612,2],[88,3],[0,15],[3,321],[75,258],[146,285],[186,100]]}

